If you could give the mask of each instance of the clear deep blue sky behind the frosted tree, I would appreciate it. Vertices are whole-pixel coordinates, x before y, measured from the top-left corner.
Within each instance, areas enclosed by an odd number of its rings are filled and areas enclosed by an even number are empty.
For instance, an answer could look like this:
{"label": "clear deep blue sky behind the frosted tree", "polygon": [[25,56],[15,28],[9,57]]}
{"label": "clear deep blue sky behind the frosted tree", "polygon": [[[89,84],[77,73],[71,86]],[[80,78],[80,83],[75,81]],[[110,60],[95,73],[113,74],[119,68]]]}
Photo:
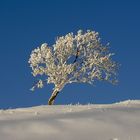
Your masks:
{"label": "clear deep blue sky behind the frosted tree", "polygon": [[47,104],[53,85],[31,92],[31,51],[77,30],[99,32],[121,63],[119,84],[67,85],[56,104],[112,103],[140,99],[140,2],[129,0],[1,0],[0,108]]}

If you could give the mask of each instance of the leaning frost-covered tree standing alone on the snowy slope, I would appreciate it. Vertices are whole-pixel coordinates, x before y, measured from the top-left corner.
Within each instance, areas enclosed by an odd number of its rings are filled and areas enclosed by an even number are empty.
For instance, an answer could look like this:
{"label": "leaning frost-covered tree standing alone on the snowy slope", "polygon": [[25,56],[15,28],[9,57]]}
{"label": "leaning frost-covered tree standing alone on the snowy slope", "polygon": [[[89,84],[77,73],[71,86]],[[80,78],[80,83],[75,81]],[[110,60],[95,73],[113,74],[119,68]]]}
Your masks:
{"label": "leaning frost-covered tree standing alone on the snowy slope", "polygon": [[48,101],[52,105],[68,83],[93,84],[96,80],[116,83],[118,64],[112,60],[112,55],[108,44],[102,45],[98,33],[90,30],[58,37],[52,47],[44,43],[30,55],[33,76],[45,77],[38,80],[32,90],[42,88],[45,83],[53,83],[54,90]]}

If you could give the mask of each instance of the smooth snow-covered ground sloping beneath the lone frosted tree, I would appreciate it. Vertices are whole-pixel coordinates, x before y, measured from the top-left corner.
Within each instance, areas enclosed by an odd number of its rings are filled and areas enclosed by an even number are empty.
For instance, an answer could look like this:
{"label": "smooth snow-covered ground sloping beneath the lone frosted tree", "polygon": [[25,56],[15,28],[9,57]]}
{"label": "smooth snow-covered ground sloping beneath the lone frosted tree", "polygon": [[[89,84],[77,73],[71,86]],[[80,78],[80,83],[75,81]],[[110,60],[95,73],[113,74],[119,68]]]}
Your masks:
{"label": "smooth snow-covered ground sloping beneath the lone frosted tree", "polygon": [[0,140],[140,140],[140,101],[0,110]]}

